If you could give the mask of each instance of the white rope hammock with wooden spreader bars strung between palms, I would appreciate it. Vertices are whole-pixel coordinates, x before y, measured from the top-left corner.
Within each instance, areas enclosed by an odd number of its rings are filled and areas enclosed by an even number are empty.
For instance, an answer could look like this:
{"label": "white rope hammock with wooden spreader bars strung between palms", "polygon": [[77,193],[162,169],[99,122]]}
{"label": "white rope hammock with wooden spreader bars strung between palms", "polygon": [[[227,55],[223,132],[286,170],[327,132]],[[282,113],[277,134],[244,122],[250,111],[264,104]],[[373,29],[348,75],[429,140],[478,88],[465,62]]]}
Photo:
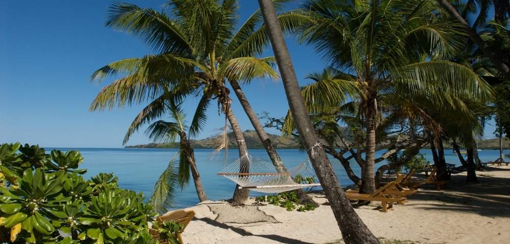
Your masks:
{"label": "white rope hammock with wooden spreader bars strung between palms", "polygon": [[279,193],[320,186],[308,159],[289,172],[277,172],[271,163],[246,154],[226,166],[218,175],[236,182],[240,186],[239,189],[263,193]]}

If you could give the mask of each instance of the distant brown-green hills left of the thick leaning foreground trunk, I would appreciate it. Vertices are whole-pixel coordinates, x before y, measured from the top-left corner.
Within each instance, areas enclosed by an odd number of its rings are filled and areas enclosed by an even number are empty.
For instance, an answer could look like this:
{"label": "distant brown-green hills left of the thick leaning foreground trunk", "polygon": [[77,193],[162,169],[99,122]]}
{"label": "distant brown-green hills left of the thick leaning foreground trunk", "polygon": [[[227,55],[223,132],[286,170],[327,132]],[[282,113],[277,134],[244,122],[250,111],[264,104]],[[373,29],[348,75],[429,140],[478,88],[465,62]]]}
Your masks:
{"label": "distant brown-green hills left of the thick leaning foreground trunk", "polygon": [[[264,148],[259,136],[255,131],[245,131],[244,140],[248,148]],[[287,138],[277,135],[269,135],[271,142],[276,148],[299,148],[298,138]],[[218,136],[209,137],[202,140],[190,140],[190,144],[193,148],[216,148],[220,144],[221,138]],[[229,147],[237,147],[234,133],[228,133]],[[144,145],[126,146],[126,148],[176,148],[179,147],[179,143],[149,143]]]}

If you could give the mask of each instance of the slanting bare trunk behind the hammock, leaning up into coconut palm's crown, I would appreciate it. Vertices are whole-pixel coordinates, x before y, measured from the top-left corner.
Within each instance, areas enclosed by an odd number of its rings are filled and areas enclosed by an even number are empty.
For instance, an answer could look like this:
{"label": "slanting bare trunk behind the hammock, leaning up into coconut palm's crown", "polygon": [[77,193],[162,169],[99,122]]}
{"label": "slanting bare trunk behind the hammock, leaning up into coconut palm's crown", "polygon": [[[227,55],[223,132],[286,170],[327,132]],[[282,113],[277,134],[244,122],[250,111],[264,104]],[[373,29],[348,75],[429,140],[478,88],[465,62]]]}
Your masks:
{"label": "slanting bare trunk behind the hammock, leaning up into coconut palm's crown", "polygon": [[[282,161],[282,158],[278,155],[276,152],[276,149],[273,147],[273,144],[271,143],[271,140],[269,139],[269,136],[266,133],[266,130],[264,130],[264,127],[260,123],[259,117],[257,116],[257,113],[253,111],[253,108],[251,108],[250,103],[248,102],[248,99],[244,95],[243,90],[241,89],[241,86],[237,82],[237,80],[230,80],[230,84],[232,85],[232,88],[234,88],[234,92],[236,93],[237,98],[239,99],[239,102],[241,103],[244,112],[246,112],[246,115],[248,115],[248,118],[250,119],[251,125],[257,132],[257,135],[259,136],[260,141],[262,142],[262,145],[264,145],[264,148],[266,148],[267,154],[269,155],[269,158],[271,159],[271,162],[274,165],[274,168],[277,172],[287,172],[287,168],[285,167],[284,162]],[[296,190],[297,196],[299,198],[299,202],[301,204],[313,204],[314,206],[319,206],[307,193],[305,193],[302,189]]]}

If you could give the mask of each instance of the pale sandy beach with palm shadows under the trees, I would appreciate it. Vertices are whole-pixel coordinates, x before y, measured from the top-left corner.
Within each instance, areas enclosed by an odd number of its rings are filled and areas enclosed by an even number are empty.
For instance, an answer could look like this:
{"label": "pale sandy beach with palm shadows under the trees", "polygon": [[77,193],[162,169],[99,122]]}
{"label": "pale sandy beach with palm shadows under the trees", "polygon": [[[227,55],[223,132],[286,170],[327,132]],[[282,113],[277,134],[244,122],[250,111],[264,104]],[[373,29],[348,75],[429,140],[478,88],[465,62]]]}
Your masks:
{"label": "pale sandy beach with palm shadows under the trees", "polygon": [[[377,206],[356,208],[377,237],[417,243],[510,243],[510,166],[477,172],[467,184],[465,174],[452,175],[442,192],[435,186],[409,197],[405,205],[380,212]],[[224,224],[207,205],[188,209],[195,219],[183,233],[186,243],[327,243],[341,239],[326,198],[314,194],[321,206],[314,211],[286,211],[264,205],[259,209],[282,223]]]}

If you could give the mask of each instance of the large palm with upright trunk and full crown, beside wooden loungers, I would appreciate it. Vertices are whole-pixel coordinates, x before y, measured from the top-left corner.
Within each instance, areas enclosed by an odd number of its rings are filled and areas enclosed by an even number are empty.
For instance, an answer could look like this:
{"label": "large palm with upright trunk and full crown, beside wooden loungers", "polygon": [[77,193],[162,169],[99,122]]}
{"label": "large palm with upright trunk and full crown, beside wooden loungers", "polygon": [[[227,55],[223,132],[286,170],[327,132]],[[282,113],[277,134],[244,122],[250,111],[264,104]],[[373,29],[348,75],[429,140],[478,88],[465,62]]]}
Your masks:
{"label": "large palm with upright trunk and full crown, beside wooden loungers", "polygon": [[358,90],[354,99],[366,142],[363,192],[375,191],[376,129],[388,104],[423,115],[417,106],[422,103],[463,108],[460,97],[491,97],[489,85],[474,72],[445,61],[465,38],[455,23],[439,18],[430,1],[309,0],[301,9],[315,20],[303,26],[301,40],[343,72],[337,82]]}

